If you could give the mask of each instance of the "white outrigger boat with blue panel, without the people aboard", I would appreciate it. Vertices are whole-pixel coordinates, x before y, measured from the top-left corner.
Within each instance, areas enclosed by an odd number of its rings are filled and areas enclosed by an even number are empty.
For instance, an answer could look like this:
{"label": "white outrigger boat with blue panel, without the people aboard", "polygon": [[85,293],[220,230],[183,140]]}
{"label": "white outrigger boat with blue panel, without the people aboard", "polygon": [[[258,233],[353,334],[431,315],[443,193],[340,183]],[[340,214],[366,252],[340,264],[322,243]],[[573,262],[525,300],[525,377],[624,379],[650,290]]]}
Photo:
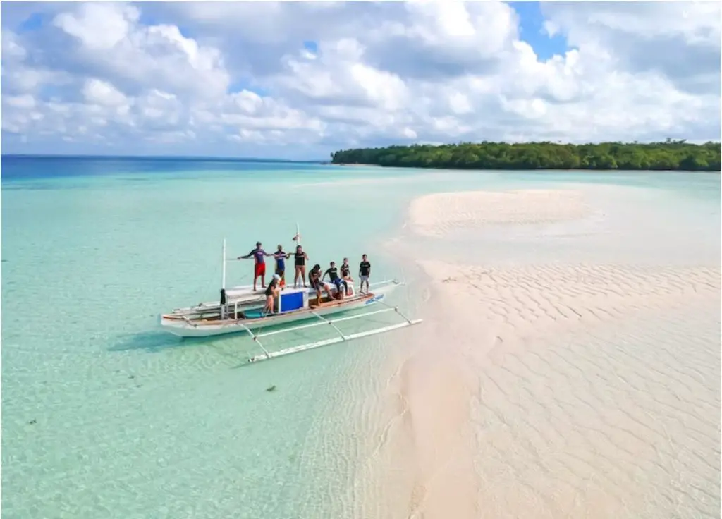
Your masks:
{"label": "white outrigger boat with blue panel, without the people aboard", "polygon": [[[300,241],[300,235],[296,234]],[[383,302],[384,297],[396,287],[404,284],[396,279],[371,284],[368,293],[356,292],[353,284],[349,283],[347,292],[343,297],[337,293],[336,287],[331,284],[329,289],[331,297],[318,297],[316,289],[284,287],[276,299],[274,312],[265,313],[264,307],[266,296],[264,292],[253,292],[253,287],[225,288],[226,262],[226,241],[223,240],[223,267],[221,281],[221,297],[219,302],[201,303],[194,307],[179,308],[172,313],[160,315],[160,326],[165,331],[181,337],[208,337],[218,336],[226,333],[245,332],[250,335],[256,344],[263,350],[263,354],[251,357],[251,362],[270,359],[281,355],[302,352],[306,349],[318,348],[329,344],[336,344],[342,341],[359,339],[360,337],[384,333],[386,331],[404,328],[422,322],[421,319],[411,320],[399,312],[399,309]],[[329,319],[332,314],[345,313],[349,310],[367,308],[369,305],[383,305],[386,308],[372,310],[355,315],[347,315],[339,318]],[[375,315],[384,312],[395,312],[404,318],[404,322],[383,326],[369,331],[344,334],[335,323],[341,321],[364,318],[368,315]],[[275,329],[258,333],[261,329],[278,328],[288,323],[300,321],[312,321],[310,323],[298,324],[290,328]],[[329,325],[339,336],[333,339],[311,342],[292,348],[282,349],[278,352],[269,352],[263,344],[262,337],[287,333],[290,331],[311,328],[314,326]]]}

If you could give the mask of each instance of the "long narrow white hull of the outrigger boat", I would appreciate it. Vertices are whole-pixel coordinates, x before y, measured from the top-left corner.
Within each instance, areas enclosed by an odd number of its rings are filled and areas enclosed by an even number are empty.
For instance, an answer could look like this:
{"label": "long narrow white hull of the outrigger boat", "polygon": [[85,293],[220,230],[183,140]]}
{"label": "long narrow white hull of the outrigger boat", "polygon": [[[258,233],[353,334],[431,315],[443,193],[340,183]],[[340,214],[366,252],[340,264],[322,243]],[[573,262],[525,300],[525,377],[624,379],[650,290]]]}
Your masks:
{"label": "long narrow white hull of the outrigger boat", "polygon": [[[160,316],[160,327],[175,336],[179,337],[211,337],[226,335],[228,333],[239,333],[282,326],[287,323],[297,323],[301,320],[318,320],[318,315],[331,315],[336,313],[358,310],[373,305],[402,284],[392,281],[378,284],[372,293],[356,295],[346,300],[339,300],[316,308],[303,308],[288,313],[268,315],[262,318],[240,318],[225,320],[191,320],[182,314],[171,313]],[[379,286],[380,285],[380,286]],[[315,315],[314,315],[315,314]]]}

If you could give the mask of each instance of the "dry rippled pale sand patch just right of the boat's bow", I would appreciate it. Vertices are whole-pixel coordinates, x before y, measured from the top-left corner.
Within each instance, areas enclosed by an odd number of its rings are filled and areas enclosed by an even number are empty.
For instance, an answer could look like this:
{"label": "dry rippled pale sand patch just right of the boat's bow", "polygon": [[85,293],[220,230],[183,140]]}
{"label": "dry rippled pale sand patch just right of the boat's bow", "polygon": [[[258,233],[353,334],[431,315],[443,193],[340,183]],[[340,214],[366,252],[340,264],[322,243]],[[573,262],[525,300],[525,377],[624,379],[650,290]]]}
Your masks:
{"label": "dry rippled pale sand patch just right of the boat's bow", "polygon": [[[720,292],[718,268],[614,265],[496,268],[419,261],[445,301],[474,308],[471,322],[493,324],[515,338],[583,320],[623,318],[638,308],[666,308],[680,297]],[[544,328],[544,330],[542,329]]]}

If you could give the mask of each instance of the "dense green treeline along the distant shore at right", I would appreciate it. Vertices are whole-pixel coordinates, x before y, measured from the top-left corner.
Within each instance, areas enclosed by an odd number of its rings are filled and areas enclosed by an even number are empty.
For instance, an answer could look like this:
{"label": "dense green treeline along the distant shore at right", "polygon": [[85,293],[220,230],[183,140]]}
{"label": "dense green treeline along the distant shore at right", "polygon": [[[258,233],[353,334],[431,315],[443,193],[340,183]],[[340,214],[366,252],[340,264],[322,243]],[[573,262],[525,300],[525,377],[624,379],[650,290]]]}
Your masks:
{"label": "dense green treeline along the distant shore at right", "polygon": [[484,141],[479,144],[344,149],[331,154],[331,163],[471,170],[720,171],[720,155],[719,142],[689,144],[671,139],[650,144]]}

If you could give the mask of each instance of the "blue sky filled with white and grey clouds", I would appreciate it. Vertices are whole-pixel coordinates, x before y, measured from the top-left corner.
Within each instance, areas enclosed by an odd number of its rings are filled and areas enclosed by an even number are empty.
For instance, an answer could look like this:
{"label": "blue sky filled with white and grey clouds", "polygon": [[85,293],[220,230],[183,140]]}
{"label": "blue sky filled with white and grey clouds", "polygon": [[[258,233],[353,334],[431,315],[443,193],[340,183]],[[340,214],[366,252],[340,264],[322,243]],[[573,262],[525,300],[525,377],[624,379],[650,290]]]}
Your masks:
{"label": "blue sky filled with white and grey clouds", "polygon": [[4,1],[1,151],[718,141],[721,5]]}

